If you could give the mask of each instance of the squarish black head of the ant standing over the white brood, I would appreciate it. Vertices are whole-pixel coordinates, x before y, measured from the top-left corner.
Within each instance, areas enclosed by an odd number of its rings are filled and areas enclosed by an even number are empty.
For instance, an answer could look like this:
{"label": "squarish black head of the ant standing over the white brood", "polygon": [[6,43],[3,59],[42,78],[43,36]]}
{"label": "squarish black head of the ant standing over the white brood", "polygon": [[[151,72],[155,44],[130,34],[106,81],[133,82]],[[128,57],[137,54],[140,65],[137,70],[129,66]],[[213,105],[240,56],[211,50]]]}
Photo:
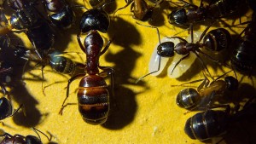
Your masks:
{"label": "squarish black head of the ant standing over the white brood", "polygon": [[157,54],[162,57],[172,57],[174,55],[174,43],[160,43],[157,47]]}

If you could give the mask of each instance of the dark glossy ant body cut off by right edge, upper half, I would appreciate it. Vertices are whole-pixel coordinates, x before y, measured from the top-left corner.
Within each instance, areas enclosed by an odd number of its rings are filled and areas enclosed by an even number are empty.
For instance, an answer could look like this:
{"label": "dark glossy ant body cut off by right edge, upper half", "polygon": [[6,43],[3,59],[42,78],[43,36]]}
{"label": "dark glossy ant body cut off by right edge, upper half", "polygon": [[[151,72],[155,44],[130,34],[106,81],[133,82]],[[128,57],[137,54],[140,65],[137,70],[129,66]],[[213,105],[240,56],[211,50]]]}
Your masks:
{"label": "dark glossy ant body cut off by right edge, upper half", "polygon": [[[244,36],[235,43],[231,55],[232,66],[240,72],[252,72],[256,64],[256,17],[247,25],[241,34]],[[240,35],[241,35],[240,34]]]}

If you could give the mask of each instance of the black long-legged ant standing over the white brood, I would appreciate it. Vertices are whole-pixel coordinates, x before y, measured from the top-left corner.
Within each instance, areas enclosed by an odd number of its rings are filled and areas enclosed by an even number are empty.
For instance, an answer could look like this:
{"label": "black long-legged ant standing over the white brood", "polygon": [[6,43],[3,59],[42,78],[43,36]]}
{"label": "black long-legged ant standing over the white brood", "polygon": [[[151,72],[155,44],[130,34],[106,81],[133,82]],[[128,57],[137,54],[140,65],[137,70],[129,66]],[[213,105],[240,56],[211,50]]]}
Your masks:
{"label": "black long-legged ant standing over the white brood", "polygon": [[[139,23],[137,23],[137,24],[144,26]],[[210,26],[212,26],[212,25],[210,25]],[[169,57],[170,58],[170,57],[174,56],[174,52],[176,52],[177,55],[184,55],[184,56],[180,60],[177,61],[175,66],[172,68],[172,72],[174,71],[176,66],[182,60],[189,57],[190,53],[194,53],[197,56],[197,58],[201,61],[202,66],[204,66],[204,68],[207,70],[208,74],[211,76],[211,73],[208,71],[208,68],[205,65],[204,61],[201,59],[201,56],[199,55],[199,53],[206,56],[209,60],[217,62],[218,64],[221,64],[221,62],[219,60],[213,59],[212,56],[204,53],[201,50],[201,48],[205,48],[205,49],[215,51],[215,52],[218,52],[222,49],[227,49],[230,47],[231,36],[230,36],[230,32],[228,32],[224,28],[218,28],[218,29],[212,30],[207,33],[210,26],[207,26],[205,31],[202,32],[201,37],[199,38],[199,40],[196,43],[194,43],[193,25],[190,25],[191,43],[189,43],[187,40],[183,39],[182,37],[168,37],[169,39],[177,38],[179,41],[181,41],[180,43],[177,43],[176,45],[171,41],[161,43],[158,28],[155,26],[146,26],[146,27],[155,28],[157,31],[158,38],[159,38],[159,45],[157,47],[157,55],[159,55],[159,60],[158,60],[159,65],[158,65],[158,69],[156,71],[149,72],[148,74],[144,75],[143,77],[138,78],[137,82],[139,82],[142,78],[145,78],[150,74],[159,72],[160,71],[160,57]],[[201,40],[203,40],[203,43],[201,43]],[[171,72],[171,74],[172,74],[172,72]]]}

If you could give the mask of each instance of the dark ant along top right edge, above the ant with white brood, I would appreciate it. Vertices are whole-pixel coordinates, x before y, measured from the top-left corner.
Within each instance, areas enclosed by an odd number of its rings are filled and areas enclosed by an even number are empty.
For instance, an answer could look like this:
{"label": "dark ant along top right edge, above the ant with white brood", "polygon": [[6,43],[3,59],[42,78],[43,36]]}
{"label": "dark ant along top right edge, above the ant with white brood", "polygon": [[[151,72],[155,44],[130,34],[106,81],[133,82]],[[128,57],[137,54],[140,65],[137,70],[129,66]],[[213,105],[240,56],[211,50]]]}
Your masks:
{"label": "dark ant along top right edge, above the ant with white brood", "polygon": [[183,0],[180,1],[185,3],[185,6],[172,11],[168,15],[168,20],[171,24],[187,27],[195,22],[216,20],[234,15],[239,13],[239,10],[244,6],[244,1],[241,0],[215,0],[210,4],[204,4],[201,0],[199,7]]}

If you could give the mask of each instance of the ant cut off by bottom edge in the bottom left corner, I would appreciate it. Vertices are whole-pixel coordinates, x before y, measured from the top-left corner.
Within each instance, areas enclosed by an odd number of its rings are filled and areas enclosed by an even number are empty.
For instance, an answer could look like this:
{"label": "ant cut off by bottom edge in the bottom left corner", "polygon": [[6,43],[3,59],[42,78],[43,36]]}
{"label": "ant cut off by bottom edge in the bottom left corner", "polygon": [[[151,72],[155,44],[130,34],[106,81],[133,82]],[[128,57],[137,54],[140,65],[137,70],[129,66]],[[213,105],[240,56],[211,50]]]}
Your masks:
{"label": "ant cut off by bottom edge in the bottom left corner", "polygon": [[40,131],[36,128],[32,128],[32,130],[38,135],[38,137],[34,136],[34,135],[23,136],[23,135],[19,135],[19,134],[10,135],[9,133],[4,133],[3,135],[0,135],[0,137],[3,137],[3,140],[1,141],[1,143],[2,144],[8,144],[8,143],[43,144],[38,132],[43,134],[50,141],[50,138],[47,135],[45,135],[42,131]]}

